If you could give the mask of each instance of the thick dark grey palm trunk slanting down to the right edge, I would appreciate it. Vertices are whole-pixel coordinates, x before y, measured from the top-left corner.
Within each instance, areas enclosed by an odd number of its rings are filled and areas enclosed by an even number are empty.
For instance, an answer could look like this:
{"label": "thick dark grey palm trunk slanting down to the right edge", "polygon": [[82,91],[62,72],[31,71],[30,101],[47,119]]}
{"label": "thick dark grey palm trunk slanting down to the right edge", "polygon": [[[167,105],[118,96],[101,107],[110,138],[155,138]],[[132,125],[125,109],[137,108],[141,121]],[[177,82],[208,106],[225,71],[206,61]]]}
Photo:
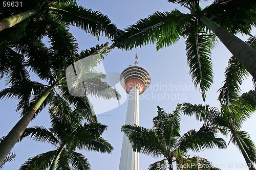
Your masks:
{"label": "thick dark grey palm trunk slanting down to the right edge", "polygon": [[248,72],[250,72],[251,76],[255,79],[256,50],[205,16],[202,16],[200,20],[219,37],[232,55],[245,67]]}

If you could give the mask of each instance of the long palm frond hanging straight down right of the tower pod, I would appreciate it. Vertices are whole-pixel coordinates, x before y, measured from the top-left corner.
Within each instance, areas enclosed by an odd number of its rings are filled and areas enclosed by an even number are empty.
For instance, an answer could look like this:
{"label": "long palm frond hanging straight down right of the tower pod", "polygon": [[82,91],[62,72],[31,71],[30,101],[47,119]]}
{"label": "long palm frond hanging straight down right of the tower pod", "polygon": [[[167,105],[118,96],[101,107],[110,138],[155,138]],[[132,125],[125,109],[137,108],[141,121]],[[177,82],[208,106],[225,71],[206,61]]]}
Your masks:
{"label": "long palm frond hanging straight down right of the tower pod", "polygon": [[191,31],[186,40],[187,63],[189,74],[195,86],[199,85],[203,101],[205,92],[213,82],[212,62],[210,58],[211,42],[205,32]]}

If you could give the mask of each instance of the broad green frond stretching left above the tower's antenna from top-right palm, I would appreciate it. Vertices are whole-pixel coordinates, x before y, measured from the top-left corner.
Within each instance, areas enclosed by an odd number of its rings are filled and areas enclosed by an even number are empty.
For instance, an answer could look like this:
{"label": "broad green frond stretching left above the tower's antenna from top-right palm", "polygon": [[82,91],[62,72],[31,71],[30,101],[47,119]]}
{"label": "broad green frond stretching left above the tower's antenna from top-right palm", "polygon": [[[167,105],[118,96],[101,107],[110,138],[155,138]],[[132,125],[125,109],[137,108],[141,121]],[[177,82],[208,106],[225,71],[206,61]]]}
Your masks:
{"label": "broad green frond stretching left above the tower's antenna from top-right palm", "polygon": [[182,36],[182,28],[189,15],[178,9],[171,12],[155,12],[145,19],[120,32],[114,44],[119,48],[131,50],[134,47],[157,42],[157,49],[172,45]]}

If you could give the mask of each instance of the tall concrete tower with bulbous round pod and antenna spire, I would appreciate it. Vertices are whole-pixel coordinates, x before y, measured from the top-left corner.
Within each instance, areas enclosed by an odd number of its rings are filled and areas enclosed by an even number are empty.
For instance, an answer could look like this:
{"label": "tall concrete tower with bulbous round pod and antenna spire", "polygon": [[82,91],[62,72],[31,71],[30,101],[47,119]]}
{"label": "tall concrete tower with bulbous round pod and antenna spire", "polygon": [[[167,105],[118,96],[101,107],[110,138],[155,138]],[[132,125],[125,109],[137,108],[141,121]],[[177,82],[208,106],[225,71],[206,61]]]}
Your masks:
{"label": "tall concrete tower with bulbous round pod and antenna spire", "polygon": [[[145,68],[138,66],[138,53],[136,53],[135,65],[124,69],[120,80],[122,87],[129,94],[125,124],[139,126],[139,95],[150,86],[151,78]],[[133,151],[125,134],[123,135],[119,170],[139,170],[139,153]]]}

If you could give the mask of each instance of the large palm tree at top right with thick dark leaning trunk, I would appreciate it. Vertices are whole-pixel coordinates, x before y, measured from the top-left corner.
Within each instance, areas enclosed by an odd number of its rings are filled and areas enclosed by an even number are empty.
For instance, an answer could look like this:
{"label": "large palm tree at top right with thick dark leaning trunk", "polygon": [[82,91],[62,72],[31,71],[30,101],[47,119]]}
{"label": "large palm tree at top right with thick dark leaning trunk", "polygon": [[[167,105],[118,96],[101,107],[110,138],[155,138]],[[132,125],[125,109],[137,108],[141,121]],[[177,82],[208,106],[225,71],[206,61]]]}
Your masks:
{"label": "large palm tree at top right with thick dark leaning trunk", "polygon": [[131,50],[148,43],[156,43],[156,48],[159,50],[185,37],[189,73],[195,86],[199,85],[205,100],[205,91],[213,82],[210,57],[210,51],[215,42],[213,32],[252,77],[256,78],[256,50],[231,34],[249,34],[252,27],[256,25],[254,17],[256,5],[253,1],[215,0],[205,9],[201,9],[199,0],[169,0],[168,2],[186,7],[190,13],[184,14],[178,9],[170,12],[155,12],[127,27],[123,32],[119,32],[114,44],[119,48]]}

